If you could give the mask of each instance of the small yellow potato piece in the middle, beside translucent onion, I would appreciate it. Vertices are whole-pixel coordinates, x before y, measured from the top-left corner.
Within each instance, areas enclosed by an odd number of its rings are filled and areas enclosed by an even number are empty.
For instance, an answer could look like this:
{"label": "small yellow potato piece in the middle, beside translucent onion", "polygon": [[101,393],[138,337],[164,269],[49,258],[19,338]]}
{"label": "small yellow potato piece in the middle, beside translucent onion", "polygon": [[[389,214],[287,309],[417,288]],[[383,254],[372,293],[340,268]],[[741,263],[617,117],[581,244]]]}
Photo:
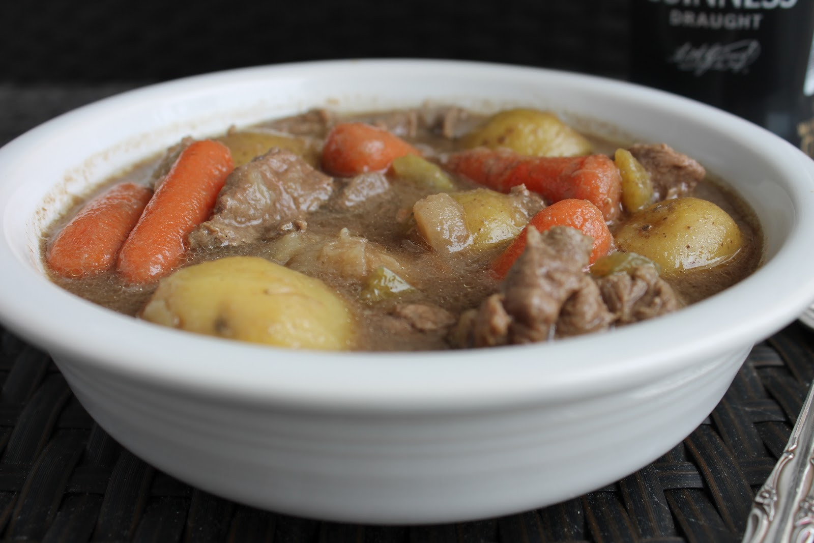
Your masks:
{"label": "small yellow potato piece in the middle, beside translucent onion", "polygon": [[472,234],[472,250],[488,249],[514,239],[528,222],[526,210],[512,195],[475,189],[453,192],[450,196],[463,208],[466,230]]}

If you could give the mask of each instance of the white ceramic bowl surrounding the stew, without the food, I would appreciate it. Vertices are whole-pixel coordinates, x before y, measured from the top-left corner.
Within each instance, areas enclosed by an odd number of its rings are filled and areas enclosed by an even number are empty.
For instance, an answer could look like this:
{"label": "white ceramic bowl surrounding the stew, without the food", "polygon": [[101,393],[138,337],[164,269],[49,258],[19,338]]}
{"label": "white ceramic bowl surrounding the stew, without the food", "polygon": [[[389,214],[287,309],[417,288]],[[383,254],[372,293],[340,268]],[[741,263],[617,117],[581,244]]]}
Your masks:
{"label": "white ceramic bowl surrounding the stew, without the food", "polygon": [[[551,108],[578,125],[667,142],[751,203],[765,264],[711,299],[605,334],[418,354],[190,335],[101,309],[42,273],[42,229],[72,195],[186,134],[308,107],[426,99]],[[425,60],[215,73],[82,107],[0,150],[0,317],[53,355],[116,440],[212,493],[357,522],[508,514],[658,458],[710,413],[752,344],[805,309],[814,299],[812,177],[811,160],[763,129],[619,81]]]}

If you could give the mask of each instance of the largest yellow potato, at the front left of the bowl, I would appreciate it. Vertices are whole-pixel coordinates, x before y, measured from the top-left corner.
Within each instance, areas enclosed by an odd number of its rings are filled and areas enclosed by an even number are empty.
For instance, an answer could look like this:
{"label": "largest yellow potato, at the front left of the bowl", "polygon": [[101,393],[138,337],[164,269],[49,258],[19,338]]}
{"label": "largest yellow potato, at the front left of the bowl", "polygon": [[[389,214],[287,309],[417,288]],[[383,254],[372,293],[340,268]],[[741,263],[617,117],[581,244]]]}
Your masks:
{"label": "largest yellow potato, at the front left of the bowl", "polygon": [[230,256],[164,278],[141,315],[199,334],[278,347],[347,350],[350,310],[322,281],[256,256]]}

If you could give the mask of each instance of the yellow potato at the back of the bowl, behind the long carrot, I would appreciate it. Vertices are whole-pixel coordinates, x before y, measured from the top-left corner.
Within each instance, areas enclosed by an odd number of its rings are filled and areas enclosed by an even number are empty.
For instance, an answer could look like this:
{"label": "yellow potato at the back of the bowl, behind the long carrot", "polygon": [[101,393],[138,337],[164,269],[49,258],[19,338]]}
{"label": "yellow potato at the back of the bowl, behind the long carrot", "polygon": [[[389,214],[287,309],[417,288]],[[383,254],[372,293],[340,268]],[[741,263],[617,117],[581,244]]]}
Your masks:
{"label": "yellow potato at the back of the bowl, behind the long carrot", "polygon": [[552,112],[507,109],[462,139],[463,147],[508,147],[521,155],[578,156],[593,151],[591,142]]}

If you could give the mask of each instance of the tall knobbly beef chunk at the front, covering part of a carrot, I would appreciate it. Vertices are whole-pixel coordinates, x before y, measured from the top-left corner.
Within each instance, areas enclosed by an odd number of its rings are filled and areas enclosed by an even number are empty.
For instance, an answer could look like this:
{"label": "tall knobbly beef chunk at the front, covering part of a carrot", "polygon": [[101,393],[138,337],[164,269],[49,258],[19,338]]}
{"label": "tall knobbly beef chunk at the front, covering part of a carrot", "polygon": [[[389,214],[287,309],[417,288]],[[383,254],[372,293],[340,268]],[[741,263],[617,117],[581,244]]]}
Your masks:
{"label": "tall knobbly beef chunk at the front, covering part of a carrot", "polygon": [[554,335],[607,328],[612,316],[583,271],[592,244],[572,228],[555,227],[543,234],[529,229],[525,252],[500,291],[479,308],[472,331],[475,347],[545,341]]}

